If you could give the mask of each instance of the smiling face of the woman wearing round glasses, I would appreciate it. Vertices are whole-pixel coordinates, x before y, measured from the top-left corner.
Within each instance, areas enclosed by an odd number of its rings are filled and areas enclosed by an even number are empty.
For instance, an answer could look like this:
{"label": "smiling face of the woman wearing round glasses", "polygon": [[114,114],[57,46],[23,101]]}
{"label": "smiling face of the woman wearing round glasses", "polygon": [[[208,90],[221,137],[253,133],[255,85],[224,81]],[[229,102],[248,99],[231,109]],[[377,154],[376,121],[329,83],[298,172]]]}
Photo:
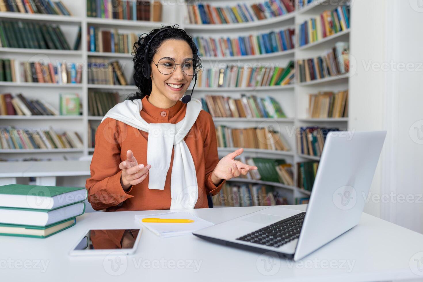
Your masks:
{"label": "smiling face of the woman wearing round glasses", "polygon": [[[173,58],[175,63],[182,64],[186,59],[192,58],[192,49],[184,40],[169,39],[164,41],[157,49],[153,61],[159,64],[159,60],[163,57]],[[157,66],[151,62],[151,93],[159,94],[164,96],[161,98],[167,98],[171,101],[180,100],[192,80],[192,76],[184,74],[181,67],[176,65],[176,69],[171,74],[162,74]]]}

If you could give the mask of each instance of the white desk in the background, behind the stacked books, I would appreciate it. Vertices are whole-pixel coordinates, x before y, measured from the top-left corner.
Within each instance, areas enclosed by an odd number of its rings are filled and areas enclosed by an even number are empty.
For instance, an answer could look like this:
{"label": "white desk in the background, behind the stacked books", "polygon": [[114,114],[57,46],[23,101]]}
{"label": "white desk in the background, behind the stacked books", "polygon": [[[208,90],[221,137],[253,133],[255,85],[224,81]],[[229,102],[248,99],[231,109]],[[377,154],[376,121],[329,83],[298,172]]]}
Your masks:
{"label": "white desk in the background, behind the stacked books", "polygon": [[91,161],[0,162],[0,186],[35,177],[36,185],[56,186],[58,176],[89,176]]}

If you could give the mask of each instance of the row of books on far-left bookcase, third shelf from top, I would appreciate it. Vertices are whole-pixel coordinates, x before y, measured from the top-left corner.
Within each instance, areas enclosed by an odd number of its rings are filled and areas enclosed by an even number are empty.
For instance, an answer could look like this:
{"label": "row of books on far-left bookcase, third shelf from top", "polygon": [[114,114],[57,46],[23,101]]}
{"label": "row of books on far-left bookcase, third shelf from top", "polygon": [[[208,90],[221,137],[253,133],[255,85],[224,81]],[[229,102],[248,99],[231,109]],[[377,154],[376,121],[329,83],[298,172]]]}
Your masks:
{"label": "row of books on far-left bookcase, third shelf from top", "polygon": [[8,82],[38,82],[54,84],[81,83],[81,63],[66,63],[66,61],[44,63],[19,62],[14,59],[0,59],[0,81]]}

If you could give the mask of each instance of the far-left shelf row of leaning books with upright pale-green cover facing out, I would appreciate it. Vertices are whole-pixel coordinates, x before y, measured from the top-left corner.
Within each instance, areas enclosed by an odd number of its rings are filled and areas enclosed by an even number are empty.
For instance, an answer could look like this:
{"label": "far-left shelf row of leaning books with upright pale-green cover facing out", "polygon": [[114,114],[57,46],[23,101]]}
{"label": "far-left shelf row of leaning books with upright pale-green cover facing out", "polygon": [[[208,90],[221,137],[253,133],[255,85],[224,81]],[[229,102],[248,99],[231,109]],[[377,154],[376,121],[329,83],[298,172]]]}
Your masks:
{"label": "far-left shelf row of leaning books with upright pale-green cover facing out", "polygon": [[60,93],[59,111],[41,99],[28,99],[22,93],[0,94],[0,115],[80,115],[78,94]]}

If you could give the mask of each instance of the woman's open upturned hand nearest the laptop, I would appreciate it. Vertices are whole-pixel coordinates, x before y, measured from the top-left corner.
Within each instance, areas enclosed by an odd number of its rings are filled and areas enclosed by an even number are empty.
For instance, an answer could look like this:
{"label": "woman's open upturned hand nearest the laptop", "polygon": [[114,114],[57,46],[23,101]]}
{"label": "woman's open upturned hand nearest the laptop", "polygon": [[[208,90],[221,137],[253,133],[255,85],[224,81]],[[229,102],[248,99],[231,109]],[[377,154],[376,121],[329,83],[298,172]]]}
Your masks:
{"label": "woman's open upturned hand nearest the laptop", "polygon": [[228,153],[217,163],[216,167],[211,174],[213,182],[219,183],[221,179],[231,179],[241,174],[246,175],[250,170],[256,170],[256,166],[250,166],[243,164],[242,162],[236,161],[233,158],[241,155],[243,148],[239,148],[232,153]]}

